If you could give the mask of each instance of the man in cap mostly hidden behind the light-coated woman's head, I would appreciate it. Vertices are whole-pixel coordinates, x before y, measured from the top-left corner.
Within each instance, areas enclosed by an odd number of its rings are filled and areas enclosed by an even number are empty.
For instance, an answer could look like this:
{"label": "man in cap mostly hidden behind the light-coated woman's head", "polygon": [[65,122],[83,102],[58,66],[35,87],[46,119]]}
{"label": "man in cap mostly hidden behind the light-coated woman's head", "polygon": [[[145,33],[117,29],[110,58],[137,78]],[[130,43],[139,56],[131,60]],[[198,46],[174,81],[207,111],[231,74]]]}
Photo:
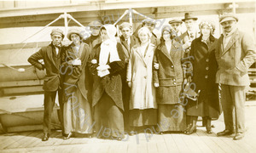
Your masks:
{"label": "man in cap mostly hidden behind the light-coated woman's head", "polygon": [[154,34],[154,27],[155,27],[156,21],[153,19],[145,19],[142,21],[142,25],[137,27],[137,30],[133,33],[133,36],[137,37],[138,40],[138,35],[137,31],[141,29],[142,27],[148,27],[149,31],[152,33],[152,37],[150,38],[151,43],[153,43],[155,46],[160,44],[160,40],[158,37]]}

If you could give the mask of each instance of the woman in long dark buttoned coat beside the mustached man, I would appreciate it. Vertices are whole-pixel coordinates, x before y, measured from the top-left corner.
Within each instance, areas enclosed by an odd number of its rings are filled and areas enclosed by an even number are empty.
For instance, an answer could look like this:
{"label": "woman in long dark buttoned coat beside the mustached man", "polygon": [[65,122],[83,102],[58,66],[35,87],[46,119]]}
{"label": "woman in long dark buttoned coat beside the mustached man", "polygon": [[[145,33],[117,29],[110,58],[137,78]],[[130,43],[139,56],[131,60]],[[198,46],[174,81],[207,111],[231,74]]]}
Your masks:
{"label": "woman in long dark buttoned coat beside the mustached man", "polygon": [[[196,131],[197,117],[202,116],[206,121],[207,133],[212,133],[211,121],[218,119],[221,113],[218,99],[218,84],[215,83],[217,62],[214,54],[216,38],[212,36],[214,26],[211,22],[202,21],[200,24],[201,37],[191,44],[190,56],[192,73],[188,80],[195,83],[195,92],[201,90],[198,100],[189,100],[187,117],[189,125],[185,133]],[[189,74],[189,73],[188,73]]]}

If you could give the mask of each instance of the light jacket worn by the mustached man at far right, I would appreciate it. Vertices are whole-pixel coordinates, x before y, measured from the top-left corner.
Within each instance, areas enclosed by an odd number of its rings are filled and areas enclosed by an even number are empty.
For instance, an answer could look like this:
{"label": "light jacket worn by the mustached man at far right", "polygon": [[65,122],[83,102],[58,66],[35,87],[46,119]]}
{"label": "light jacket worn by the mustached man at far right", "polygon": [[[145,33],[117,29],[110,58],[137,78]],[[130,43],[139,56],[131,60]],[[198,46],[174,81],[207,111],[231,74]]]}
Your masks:
{"label": "light jacket worn by the mustached man at far right", "polygon": [[223,35],[219,37],[215,50],[218,62],[216,82],[231,86],[249,85],[247,70],[256,60],[253,38],[236,30],[225,48],[223,39]]}

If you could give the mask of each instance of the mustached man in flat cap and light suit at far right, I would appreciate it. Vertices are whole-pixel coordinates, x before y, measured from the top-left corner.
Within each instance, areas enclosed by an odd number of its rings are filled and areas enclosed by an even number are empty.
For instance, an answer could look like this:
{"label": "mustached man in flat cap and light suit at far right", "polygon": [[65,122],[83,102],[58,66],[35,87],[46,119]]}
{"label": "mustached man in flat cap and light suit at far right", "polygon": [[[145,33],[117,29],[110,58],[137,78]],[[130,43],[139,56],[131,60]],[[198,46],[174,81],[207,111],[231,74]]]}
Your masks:
{"label": "mustached man in flat cap and light suit at far right", "polygon": [[218,136],[236,133],[234,140],[245,135],[245,89],[250,85],[247,70],[256,60],[253,38],[238,30],[235,14],[219,18],[223,34],[215,50],[218,62],[216,82],[221,85],[221,103],[225,129]]}

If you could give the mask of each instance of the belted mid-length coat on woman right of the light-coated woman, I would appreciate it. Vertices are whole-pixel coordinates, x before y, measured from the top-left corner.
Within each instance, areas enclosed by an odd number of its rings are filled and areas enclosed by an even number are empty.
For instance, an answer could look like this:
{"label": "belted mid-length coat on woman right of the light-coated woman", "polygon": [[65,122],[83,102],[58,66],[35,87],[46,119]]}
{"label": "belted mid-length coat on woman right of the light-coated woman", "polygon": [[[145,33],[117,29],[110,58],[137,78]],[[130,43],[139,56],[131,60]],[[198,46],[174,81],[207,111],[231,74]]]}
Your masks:
{"label": "belted mid-length coat on woman right of the light-coated woman", "polygon": [[[171,56],[172,54],[172,56]],[[180,42],[172,42],[171,54],[168,53],[165,43],[160,43],[154,54],[154,83],[159,83],[156,89],[158,104],[177,104],[183,84],[183,48]]]}

